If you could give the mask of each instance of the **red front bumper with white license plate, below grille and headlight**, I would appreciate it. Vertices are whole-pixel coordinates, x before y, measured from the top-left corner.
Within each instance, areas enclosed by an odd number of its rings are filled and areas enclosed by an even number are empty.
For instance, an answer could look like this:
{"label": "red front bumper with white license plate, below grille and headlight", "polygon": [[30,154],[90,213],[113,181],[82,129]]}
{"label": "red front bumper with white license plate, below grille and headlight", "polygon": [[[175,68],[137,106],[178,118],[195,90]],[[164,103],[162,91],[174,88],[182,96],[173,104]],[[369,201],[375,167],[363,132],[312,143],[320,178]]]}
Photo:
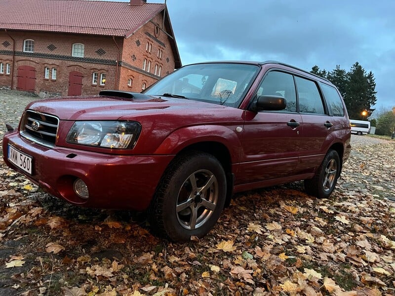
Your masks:
{"label": "red front bumper with white license plate, below grille and headlight", "polygon": [[[33,157],[29,175],[7,159],[8,145]],[[48,193],[84,207],[146,210],[165,168],[174,155],[109,155],[70,148],[46,148],[22,138],[17,131],[3,138],[3,158]],[[75,180],[88,187],[89,198],[73,190]]]}

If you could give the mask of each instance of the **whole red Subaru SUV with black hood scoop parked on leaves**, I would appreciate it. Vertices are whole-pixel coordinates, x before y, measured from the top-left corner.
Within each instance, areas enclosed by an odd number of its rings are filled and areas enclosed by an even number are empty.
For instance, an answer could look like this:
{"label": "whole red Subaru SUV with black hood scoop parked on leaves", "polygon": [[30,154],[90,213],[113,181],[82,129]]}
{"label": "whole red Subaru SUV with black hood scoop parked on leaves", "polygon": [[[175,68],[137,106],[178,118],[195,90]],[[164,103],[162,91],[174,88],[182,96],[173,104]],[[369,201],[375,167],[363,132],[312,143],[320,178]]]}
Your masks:
{"label": "whole red Subaru SUV with black hood scoop parked on leaves", "polygon": [[350,122],[327,80],[278,62],[180,68],[144,93],[37,101],[3,157],[70,203],[148,210],[173,240],[205,235],[234,192],[304,180],[328,197]]}

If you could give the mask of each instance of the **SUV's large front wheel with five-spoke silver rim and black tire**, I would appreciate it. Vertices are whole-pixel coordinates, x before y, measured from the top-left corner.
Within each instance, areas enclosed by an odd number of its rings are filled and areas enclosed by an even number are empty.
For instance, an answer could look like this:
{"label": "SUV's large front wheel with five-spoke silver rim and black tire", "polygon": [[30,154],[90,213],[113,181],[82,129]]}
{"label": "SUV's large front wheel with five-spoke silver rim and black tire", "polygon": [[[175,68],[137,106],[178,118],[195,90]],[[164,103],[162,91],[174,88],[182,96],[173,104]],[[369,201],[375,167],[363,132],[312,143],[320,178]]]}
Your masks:
{"label": "SUV's large front wheel with five-spoke silver rim and black tire", "polygon": [[152,229],[174,241],[204,236],[221,215],[226,188],[225,171],[213,155],[190,151],[177,156],[151,204]]}

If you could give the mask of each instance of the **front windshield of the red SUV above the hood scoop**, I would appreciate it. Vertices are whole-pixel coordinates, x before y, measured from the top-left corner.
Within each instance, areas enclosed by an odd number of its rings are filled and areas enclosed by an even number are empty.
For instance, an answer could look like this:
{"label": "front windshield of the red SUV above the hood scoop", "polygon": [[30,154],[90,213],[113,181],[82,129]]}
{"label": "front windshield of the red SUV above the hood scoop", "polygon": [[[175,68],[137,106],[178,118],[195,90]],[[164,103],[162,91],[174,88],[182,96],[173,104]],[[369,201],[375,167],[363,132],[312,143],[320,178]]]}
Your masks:
{"label": "front windshield of the red SUV above the hood scoop", "polygon": [[236,63],[189,65],[165,76],[143,93],[238,107],[259,69],[256,65]]}

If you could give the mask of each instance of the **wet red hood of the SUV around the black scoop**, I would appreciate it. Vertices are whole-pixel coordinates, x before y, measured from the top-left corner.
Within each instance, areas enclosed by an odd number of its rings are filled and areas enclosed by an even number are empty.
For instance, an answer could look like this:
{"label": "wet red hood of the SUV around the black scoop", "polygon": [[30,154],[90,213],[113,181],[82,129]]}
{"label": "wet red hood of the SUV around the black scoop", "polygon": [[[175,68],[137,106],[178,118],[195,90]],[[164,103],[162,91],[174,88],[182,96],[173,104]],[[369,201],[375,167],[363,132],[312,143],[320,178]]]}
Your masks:
{"label": "wet red hood of the SUV around the black scoop", "polygon": [[26,109],[53,114],[60,120],[124,120],[136,116],[163,112],[185,114],[191,110],[212,110],[227,108],[188,99],[148,97],[145,99],[124,99],[106,96],[66,97],[40,100]]}

